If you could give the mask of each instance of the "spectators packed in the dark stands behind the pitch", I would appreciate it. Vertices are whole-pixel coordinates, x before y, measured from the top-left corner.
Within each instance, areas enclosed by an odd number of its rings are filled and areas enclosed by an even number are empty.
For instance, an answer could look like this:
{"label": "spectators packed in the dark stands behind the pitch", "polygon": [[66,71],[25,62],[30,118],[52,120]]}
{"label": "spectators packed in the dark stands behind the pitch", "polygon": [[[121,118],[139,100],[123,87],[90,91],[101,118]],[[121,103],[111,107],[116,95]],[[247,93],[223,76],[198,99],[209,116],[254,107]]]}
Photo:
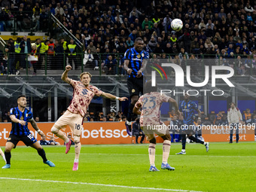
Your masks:
{"label": "spectators packed in the dark stands behind the pitch", "polygon": [[[140,1],[135,4],[133,1],[120,0],[68,0],[16,1],[14,4],[2,0],[0,5],[0,20],[4,29],[10,29],[8,26],[14,23],[14,17],[17,16],[20,31],[28,25],[28,19],[34,23],[36,30],[46,29],[49,14],[53,14],[81,41],[83,53],[86,53],[82,58],[77,56],[79,50],[73,40],[50,38],[50,41],[35,42],[37,48],[43,45],[37,50],[38,53],[48,51],[49,62],[55,58],[59,66],[63,59],[59,60],[62,55],[57,57],[58,53],[67,53],[69,60],[75,64],[83,60],[84,66],[93,69],[102,67],[110,75],[117,74],[116,67],[119,66],[119,74],[124,75],[126,72],[122,70],[122,54],[133,47],[136,38],[141,37],[145,41],[144,49],[151,53],[153,59],[172,57],[181,64],[184,57],[199,59],[204,56],[221,58],[222,65],[233,66],[228,59],[237,58],[242,59],[236,64],[237,74],[245,75],[249,68],[256,70],[256,5],[252,1]],[[180,32],[172,31],[170,24],[174,18],[184,23]],[[52,27],[62,33],[58,26]],[[22,41],[14,39],[8,41],[8,44],[15,47]],[[20,50],[20,53],[30,53],[31,50],[32,47],[28,47],[28,50]],[[18,51],[15,50],[16,53]],[[14,50],[9,48],[8,52],[14,53]],[[99,63],[99,57],[102,63]],[[39,65],[35,64],[35,69],[40,69],[42,58],[39,56]],[[0,69],[3,70],[3,66],[5,60],[2,60]]]}

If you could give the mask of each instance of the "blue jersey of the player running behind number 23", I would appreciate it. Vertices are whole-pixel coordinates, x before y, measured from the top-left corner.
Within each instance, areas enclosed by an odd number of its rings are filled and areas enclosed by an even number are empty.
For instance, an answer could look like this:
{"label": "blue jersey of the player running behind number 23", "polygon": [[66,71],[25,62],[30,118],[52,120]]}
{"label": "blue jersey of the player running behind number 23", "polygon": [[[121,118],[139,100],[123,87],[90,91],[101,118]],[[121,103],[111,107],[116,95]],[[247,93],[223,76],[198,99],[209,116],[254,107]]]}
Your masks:
{"label": "blue jersey of the player running behind number 23", "polygon": [[179,111],[183,113],[184,117],[184,124],[193,124],[194,123],[194,114],[197,111],[198,107],[197,104],[193,101],[182,101],[179,104]]}

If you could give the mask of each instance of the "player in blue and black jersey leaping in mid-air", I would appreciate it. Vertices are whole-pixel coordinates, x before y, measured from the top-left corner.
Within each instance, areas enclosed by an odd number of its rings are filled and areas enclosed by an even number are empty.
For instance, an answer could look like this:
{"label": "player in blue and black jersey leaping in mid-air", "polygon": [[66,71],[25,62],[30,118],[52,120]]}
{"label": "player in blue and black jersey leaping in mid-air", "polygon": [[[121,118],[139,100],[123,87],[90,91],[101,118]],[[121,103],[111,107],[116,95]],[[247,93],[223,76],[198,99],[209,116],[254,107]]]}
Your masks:
{"label": "player in blue and black jersey leaping in mid-air", "polygon": [[149,54],[142,50],[144,41],[142,38],[136,38],[134,47],[126,50],[124,53],[123,69],[127,71],[127,86],[130,93],[130,106],[126,120],[126,130],[131,136],[131,120],[133,116],[133,108],[139,99],[139,93],[143,94],[143,71],[146,66],[146,59],[149,59]]}

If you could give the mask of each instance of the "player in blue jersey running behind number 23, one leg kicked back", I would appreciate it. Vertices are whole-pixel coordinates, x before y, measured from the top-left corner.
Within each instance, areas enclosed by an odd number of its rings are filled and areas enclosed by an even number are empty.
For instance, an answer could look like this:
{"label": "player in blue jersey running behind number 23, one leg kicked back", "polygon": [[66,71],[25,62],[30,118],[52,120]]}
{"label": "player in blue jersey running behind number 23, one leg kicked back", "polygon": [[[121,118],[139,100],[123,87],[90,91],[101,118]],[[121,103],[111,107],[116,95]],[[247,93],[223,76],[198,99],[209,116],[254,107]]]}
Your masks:
{"label": "player in blue jersey running behind number 23, one leg kicked back", "polygon": [[181,129],[181,142],[182,142],[182,150],[177,154],[186,154],[186,135],[188,139],[203,144],[206,146],[206,152],[209,151],[209,142],[203,142],[198,138],[195,138],[193,135],[195,133],[196,127],[194,125],[194,114],[197,111],[198,120],[197,124],[201,124],[201,111],[197,107],[197,104],[190,100],[190,96],[186,93],[184,94],[184,101],[181,101],[179,104],[179,111],[183,114],[183,127]]}

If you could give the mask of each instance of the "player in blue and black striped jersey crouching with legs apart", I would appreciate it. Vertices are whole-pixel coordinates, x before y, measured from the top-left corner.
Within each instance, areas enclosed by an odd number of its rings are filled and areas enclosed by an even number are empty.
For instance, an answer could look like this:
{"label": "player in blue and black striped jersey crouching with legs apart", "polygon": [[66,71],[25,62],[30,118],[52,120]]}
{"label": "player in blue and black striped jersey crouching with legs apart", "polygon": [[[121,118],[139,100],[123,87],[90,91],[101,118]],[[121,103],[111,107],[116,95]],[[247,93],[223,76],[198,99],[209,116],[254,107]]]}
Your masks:
{"label": "player in blue and black striped jersey crouching with legs apart", "polygon": [[18,96],[17,103],[18,107],[11,108],[10,110],[12,127],[10,136],[5,145],[6,164],[2,167],[2,169],[11,168],[11,150],[16,148],[17,143],[20,141],[22,141],[26,146],[35,148],[43,159],[44,163],[48,166],[54,167],[54,163],[47,160],[44,149],[28,129],[28,122],[30,122],[38,134],[40,136],[44,136],[44,133],[39,130],[38,125],[35,123],[32,112],[26,108],[26,96]]}

